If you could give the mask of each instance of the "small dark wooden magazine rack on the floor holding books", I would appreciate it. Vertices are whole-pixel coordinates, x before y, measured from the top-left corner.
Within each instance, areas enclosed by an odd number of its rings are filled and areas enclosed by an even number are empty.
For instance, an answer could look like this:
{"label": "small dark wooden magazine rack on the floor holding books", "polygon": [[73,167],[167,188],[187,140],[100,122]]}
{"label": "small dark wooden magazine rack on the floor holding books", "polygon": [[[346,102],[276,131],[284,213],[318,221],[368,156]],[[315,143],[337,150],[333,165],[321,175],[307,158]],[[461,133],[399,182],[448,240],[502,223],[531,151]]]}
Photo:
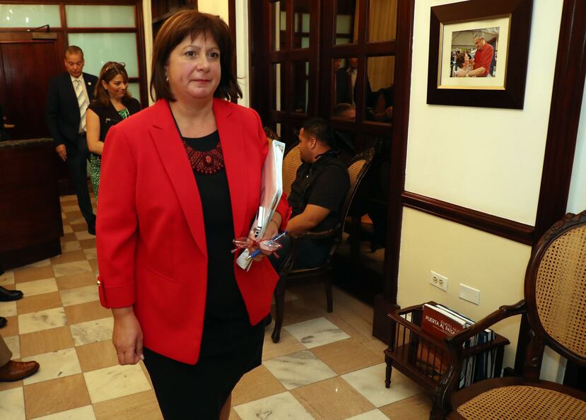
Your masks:
{"label": "small dark wooden magazine rack on the floor holding books", "polygon": [[[436,305],[435,302],[428,303]],[[430,419],[443,418],[441,413],[443,407],[439,397],[447,385],[443,379],[447,379],[448,371],[450,368],[455,368],[456,363],[453,363],[450,351],[443,340],[436,339],[421,329],[422,313],[423,303],[387,314],[392,320],[392,326],[389,347],[385,350],[387,363],[385,385],[387,388],[390,387],[392,368],[399,369],[401,373],[433,394]],[[491,342],[464,349],[462,356],[474,356],[485,351],[496,350],[492,368],[494,377],[499,377],[507,344],[509,344],[508,339],[495,334]]]}

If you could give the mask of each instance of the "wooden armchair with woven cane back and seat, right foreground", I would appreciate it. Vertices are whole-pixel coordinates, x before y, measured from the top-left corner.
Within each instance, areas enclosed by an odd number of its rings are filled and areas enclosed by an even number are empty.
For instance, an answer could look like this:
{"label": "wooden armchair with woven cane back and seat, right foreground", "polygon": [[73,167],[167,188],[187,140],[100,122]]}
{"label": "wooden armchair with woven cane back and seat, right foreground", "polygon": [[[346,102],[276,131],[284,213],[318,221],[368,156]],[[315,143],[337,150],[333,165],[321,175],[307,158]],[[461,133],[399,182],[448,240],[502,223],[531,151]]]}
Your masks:
{"label": "wooden armchair with woven cane back and seat, right foreground", "polygon": [[[446,343],[457,361],[435,395],[433,419],[586,419],[586,393],[539,380],[544,347],[586,366],[586,211],[566,216],[539,240],[525,274],[525,300],[501,306]],[[524,314],[529,342],[521,376],[483,380],[452,395],[462,344],[483,329]],[[453,410],[453,411],[452,411]]]}

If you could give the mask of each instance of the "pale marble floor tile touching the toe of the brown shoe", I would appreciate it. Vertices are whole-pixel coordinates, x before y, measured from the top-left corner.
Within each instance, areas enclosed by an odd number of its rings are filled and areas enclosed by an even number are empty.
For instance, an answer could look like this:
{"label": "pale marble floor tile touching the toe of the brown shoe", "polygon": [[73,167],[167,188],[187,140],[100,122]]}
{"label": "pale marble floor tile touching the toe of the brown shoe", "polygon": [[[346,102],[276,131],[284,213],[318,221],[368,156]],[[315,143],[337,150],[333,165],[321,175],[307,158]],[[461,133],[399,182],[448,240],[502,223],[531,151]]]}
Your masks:
{"label": "pale marble floor tile touching the toe of the brown shoe", "polygon": [[40,364],[39,371],[35,373],[35,375],[29,376],[23,380],[25,386],[43,382],[45,380],[64,378],[69,375],[81,373],[77,353],[73,347],[64,350],[51,351],[50,353],[23,357],[22,360],[35,360]]}

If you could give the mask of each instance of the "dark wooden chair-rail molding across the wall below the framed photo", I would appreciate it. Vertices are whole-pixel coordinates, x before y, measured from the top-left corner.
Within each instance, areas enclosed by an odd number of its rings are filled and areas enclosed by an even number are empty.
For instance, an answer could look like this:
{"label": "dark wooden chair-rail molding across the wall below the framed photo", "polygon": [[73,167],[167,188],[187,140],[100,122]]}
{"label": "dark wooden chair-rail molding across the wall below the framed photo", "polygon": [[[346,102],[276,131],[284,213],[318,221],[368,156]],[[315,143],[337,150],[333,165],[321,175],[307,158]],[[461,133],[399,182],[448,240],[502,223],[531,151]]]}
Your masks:
{"label": "dark wooden chair-rail molding across the wall below the framed photo", "polygon": [[493,216],[482,211],[467,209],[466,207],[415,194],[414,192],[403,192],[402,199],[404,206],[411,209],[423,211],[449,221],[455,221],[501,238],[515,240],[515,242],[524,243],[525,245],[533,245],[534,227],[525,223]]}

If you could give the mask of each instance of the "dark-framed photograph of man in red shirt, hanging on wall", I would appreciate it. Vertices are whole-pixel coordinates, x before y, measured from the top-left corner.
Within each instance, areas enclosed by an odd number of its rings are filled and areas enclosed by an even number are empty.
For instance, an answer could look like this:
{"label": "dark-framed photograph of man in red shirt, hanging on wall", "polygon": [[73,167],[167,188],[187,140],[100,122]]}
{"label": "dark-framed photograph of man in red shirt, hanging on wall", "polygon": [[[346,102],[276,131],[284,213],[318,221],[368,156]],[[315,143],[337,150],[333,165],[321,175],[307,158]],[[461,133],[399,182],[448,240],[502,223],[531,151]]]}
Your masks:
{"label": "dark-framed photograph of man in red shirt, hanging on wall", "polygon": [[533,0],[431,8],[427,103],[522,109]]}

